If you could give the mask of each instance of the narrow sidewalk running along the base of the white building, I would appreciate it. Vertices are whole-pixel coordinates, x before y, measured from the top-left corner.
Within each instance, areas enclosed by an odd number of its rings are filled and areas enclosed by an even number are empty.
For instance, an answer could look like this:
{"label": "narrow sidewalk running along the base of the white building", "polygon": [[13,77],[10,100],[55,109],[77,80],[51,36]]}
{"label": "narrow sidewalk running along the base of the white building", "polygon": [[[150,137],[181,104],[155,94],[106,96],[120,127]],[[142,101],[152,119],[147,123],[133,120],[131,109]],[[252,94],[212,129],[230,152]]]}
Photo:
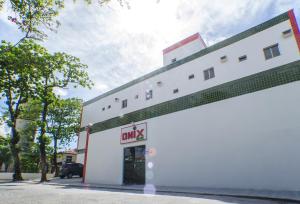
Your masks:
{"label": "narrow sidewalk running along the base of the white building", "polygon": [[81,178],[58,179],[53,178],[46,185],[59,185],[65,187],[97,188],[118,191],[137,191],[145,194],[184,194],[199,196],[233,196],[241,198],[267,199],[278,201],[300,202],[300,191],[273,191],[254,189],[227,189],[227,188],[200,188],[200,187],[166,187],[147,185],[100,185],[83,184]]}

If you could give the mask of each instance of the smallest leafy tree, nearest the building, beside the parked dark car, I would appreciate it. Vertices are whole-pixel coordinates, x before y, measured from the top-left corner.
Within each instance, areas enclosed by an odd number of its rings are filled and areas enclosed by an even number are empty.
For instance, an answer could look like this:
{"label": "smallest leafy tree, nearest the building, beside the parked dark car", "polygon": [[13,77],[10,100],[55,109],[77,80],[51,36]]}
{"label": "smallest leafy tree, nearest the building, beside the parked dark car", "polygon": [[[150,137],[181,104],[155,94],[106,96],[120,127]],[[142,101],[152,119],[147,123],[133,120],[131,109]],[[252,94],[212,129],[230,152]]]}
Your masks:
{"label": "smallest leafy tree, nearest the building, beside the parked dark car", "polygon": [[53,165],[55,176],[58,176],[58,144],[68,145],[73,141],[80,128],[82,100],[76,98],[59,99],[49,107],[47,118],[48,134],[53,140]]}

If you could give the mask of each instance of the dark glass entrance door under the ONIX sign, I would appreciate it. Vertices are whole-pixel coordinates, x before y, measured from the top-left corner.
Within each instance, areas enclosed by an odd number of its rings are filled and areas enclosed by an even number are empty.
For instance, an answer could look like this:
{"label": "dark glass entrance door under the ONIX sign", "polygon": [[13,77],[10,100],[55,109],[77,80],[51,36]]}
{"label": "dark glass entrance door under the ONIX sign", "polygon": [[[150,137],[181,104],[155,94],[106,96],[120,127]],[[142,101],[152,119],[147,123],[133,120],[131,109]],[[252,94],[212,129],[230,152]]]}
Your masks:
{"label": "dark glass entrance door under the ONIX sign", "polygon": [[145,184],[145,145],[124,149],[124,184]]}

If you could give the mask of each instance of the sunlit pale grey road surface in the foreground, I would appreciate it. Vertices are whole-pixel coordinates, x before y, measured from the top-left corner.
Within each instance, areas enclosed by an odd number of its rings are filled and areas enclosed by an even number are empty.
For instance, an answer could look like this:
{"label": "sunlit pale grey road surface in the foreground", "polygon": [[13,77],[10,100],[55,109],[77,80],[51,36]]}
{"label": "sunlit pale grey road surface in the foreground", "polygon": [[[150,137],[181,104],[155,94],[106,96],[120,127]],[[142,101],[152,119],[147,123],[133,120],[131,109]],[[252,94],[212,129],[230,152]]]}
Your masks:
{"label": "sunlit pale grey road surface in the foreground", "polygon": [[138,192],[120,192],[103,189],[67,186],[0,182],[0,204],[274,204],[267,200],[233,197],[189,197],[187,195],[145,195]]}

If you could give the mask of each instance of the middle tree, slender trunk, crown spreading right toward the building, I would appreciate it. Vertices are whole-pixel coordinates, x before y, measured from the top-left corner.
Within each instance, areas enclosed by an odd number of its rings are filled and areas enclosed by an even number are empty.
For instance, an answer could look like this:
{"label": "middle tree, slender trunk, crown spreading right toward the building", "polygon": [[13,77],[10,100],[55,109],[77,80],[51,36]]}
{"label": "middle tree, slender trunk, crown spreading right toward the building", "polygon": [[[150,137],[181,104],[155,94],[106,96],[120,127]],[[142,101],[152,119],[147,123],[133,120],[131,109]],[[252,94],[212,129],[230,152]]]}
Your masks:
{"label": "middle tree, slender trunk, crown spreading right toward the building", "polygon": [[55,53],[53,55],[45,53],[41,56],[40,68],[37,70],[39,80],[35,81],[36,98],[42,104],[41,120],[39,122],[39,148],[41,160],[41,182],[47,181],[46,163],[46,139],[47,139],[47,116],[49,106],[57,100],[54,88],[67,88],[73,85],[88,87],[92,82],[87,74],[87,66],[80,63],[74,56],[65,53]]}

